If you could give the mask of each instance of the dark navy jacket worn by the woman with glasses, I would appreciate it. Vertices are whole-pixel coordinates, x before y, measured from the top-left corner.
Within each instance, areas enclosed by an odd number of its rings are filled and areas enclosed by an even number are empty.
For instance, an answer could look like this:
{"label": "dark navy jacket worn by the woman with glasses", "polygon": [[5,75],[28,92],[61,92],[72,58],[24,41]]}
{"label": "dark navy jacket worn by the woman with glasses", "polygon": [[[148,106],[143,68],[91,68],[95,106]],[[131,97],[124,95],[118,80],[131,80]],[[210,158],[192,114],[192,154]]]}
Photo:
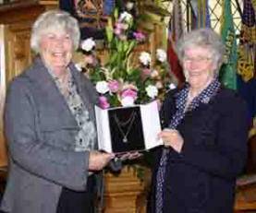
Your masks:
{"label": "dark navy jacket worn by the woman with glasses", "polygon": [[[177,90],[165,97],[165,127],[177,111]],[[166,163],[164,213],[232,213],[236,177],[247,153],[246,103],[229,89],[220,89],[209,104],[186,113],[177,125],[184,139],[180,153],[171,148]],[[149,212],[155,213],[156,174],[162,149],[155,150]]]}

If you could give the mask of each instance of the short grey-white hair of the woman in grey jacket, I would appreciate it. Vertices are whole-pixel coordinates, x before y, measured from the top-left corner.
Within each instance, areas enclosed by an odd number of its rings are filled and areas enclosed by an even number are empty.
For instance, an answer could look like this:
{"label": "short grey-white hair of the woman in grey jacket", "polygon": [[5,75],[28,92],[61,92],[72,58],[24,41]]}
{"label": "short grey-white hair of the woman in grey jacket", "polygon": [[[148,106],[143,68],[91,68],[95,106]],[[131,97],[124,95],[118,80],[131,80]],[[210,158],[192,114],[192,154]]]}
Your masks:
{"label": "short grey-white hair of the woman in grey jacket", "polygon": [[79,48],[79,22],[65,11],[49,10],[41,14],[32,26],[30,46],[35,53],[40,52],[40,40],[47,31],[66,31],[73,44],[73,50]]}

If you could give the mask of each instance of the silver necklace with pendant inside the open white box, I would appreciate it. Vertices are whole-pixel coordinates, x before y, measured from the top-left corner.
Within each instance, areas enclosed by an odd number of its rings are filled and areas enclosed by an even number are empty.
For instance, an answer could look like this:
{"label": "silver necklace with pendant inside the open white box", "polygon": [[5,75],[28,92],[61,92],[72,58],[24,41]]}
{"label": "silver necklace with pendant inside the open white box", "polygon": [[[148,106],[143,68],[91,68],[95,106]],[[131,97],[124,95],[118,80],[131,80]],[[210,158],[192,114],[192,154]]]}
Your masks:
{"label": "silver necklace with pendant inside the open white box", "polygon": [[[131,130],[132,124],[133,124],[134,121],[135,121],[135,117],[136,117],[136,112],[132,112],[132,114],[130,115],[130,117],[128,118],[127,121],[121,122],[121,121],[118,119],[118,117],[116,116],[116,114],[114,115],[114,119],[115,119],[115,121],[116,121],[116,125],[117,125],[117,127],[118,127],[119,132],[120,132],[121,135],[123,136],[123,142],[124,142],[124,143],[128,143],[128,134],[129,134],[129,132],[130,132],[130,130]],[[126,133],[125,133],[124,130],[122,129],[122,126],[124,127],[124,126],[126,126],[126,125],[128,125],[128,128],[127,128],[127,131],[126,131]]]}

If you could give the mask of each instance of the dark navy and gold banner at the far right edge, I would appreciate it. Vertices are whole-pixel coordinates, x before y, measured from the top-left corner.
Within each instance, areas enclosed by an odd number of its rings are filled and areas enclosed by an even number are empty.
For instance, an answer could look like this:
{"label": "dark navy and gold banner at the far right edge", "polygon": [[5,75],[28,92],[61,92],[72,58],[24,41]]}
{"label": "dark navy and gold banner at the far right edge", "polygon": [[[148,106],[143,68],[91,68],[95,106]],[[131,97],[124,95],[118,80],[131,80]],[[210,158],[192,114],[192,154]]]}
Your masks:
{"label": "dark navy and gold banner at the far right edge", "polygon": [[[255,8],[255,0],[244,1],[242,25],[238,44],[238,93],[247,101],[250,124],[252,124],[252,119],[256,114]],[[255,127],[253,127],[252,129],[254,128]]]}

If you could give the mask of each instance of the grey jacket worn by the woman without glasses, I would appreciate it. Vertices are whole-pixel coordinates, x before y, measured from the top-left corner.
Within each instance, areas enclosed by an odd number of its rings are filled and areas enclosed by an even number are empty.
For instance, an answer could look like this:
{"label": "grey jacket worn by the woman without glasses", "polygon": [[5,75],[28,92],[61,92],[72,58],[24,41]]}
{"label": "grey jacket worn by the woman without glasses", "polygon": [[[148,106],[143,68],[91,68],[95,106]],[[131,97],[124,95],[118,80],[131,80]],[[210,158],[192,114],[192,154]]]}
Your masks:
{"label": "grey jacket worn by the woman without glasses", "polygon": [[[69,65],[94,120],[96,91]],[[10,168],[1,208],[10,213],[55,213],[63,186],[86,189],[89,152],[71,148],[79,131],[67,102],[40,58],[10,83],[5,133]]]}

